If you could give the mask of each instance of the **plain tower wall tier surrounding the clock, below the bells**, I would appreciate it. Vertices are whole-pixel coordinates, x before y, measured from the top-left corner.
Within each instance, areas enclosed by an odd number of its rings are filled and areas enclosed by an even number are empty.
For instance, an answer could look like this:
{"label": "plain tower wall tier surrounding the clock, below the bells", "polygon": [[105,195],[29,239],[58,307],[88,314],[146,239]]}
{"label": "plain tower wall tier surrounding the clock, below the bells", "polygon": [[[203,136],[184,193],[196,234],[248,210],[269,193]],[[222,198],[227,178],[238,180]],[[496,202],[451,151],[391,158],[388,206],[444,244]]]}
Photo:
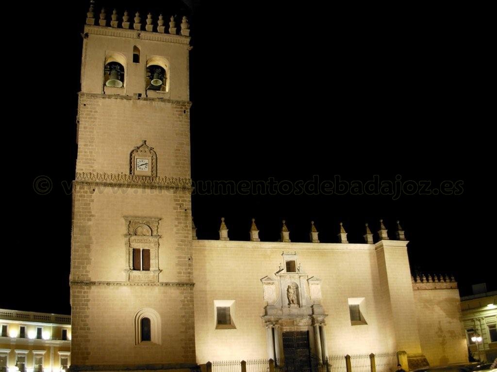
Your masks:
{"label": "plain tower wall tier surrounding the clock, below the bells", "polygon": [[130,172],[142,140],[157,152],[157,174],[190,177],[189,102],[80,93],[77,172]]}

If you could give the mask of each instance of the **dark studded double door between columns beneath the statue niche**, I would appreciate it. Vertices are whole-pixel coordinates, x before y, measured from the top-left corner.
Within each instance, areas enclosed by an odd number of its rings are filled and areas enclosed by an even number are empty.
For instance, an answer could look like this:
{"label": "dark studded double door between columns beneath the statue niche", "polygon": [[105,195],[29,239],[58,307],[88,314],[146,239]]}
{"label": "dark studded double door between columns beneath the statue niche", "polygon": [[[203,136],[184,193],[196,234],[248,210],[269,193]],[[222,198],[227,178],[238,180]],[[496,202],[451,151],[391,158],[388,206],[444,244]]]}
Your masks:
{"label": "dark studded double door between columns beneath the statue niche", "polygon": [[283,332],[284,370],[288,372],[311,372],[309,332]]}

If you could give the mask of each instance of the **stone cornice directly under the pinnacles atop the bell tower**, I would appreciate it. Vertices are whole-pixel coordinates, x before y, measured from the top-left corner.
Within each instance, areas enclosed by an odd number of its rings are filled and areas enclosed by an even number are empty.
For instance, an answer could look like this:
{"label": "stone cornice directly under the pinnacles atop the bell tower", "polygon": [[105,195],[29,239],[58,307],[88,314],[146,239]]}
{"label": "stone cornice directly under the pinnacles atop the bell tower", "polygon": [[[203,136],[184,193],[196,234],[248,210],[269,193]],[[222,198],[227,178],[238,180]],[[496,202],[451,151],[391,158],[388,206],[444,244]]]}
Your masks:
{"label": "stone cornice directly under the pinnacles atop the bell tower", "polygon": [[172,43],[184,45],[186,48],[190,48],[190,37],[182,35],[172,35],[163,34],[160,32],[150,32],[150,31],[138,31],[130,30],[126,28],[114,28],[114,27],[104,27],[104,26],[92,26],[85,25],[84,32],[89,35],[104,35],[104,36],[115,36],[128,39],[139,39],[139,40],[149,40],[158,41],[162,43]]}

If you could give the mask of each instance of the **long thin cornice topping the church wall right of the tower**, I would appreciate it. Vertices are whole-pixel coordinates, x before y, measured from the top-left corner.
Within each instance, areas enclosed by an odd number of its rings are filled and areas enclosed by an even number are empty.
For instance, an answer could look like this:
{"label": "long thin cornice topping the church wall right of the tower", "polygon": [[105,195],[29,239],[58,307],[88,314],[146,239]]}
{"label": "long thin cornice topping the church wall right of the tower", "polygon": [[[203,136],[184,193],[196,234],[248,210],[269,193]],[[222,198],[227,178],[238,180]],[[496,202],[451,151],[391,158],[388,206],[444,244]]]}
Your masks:
{"label": "long thin cornice topping the church wall right of the tower", "polygon": [[229,248],[229,249],[278,249],[278,250],[369,250],[374,251],[372,244],[343,243],[284,243],[284,242],[247,242],[235,240],[193,240],[193,248]]}

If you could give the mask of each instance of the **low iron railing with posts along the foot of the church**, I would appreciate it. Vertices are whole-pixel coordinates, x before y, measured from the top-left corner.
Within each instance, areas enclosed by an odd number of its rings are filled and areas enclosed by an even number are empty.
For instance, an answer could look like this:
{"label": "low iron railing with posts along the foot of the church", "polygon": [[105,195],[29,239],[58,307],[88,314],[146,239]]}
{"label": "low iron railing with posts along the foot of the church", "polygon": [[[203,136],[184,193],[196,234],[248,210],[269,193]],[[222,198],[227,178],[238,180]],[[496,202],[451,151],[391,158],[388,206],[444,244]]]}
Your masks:
{"label": "low iron railing with posts along the foot of the church", "polygon": [[[294,371],[284,360],[249,359],[247,361],[214,361],[201,366],[202,372],[394,372],[399,361],[397,352],[378,354],[330,355],[319,363],[312,358],[306,371]],[[301,367],[302,368],[302,367]]]}

